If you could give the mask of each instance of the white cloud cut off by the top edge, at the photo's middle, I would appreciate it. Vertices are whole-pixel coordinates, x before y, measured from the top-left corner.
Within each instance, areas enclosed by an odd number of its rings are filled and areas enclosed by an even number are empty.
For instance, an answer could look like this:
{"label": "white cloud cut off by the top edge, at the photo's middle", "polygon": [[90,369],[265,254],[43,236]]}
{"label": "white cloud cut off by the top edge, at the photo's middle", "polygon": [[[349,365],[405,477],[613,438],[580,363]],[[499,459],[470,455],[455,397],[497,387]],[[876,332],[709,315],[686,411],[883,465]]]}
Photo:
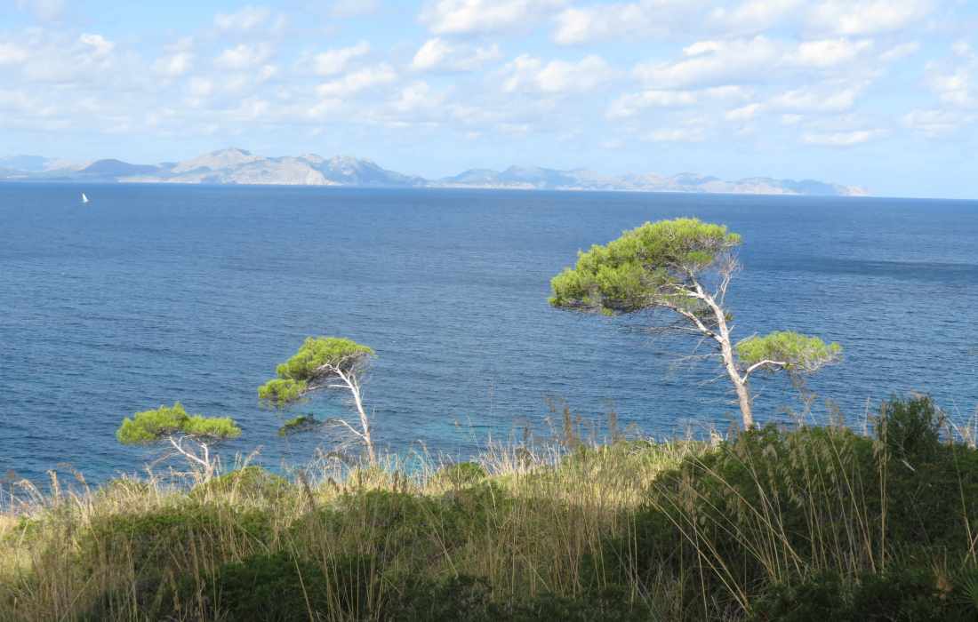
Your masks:
{"label": "white cloud cut off by the top edge, at the photo's middle", "polygon": [[435,34],[498,32],[525,26],[564,0],[431,0],[421,21]]}

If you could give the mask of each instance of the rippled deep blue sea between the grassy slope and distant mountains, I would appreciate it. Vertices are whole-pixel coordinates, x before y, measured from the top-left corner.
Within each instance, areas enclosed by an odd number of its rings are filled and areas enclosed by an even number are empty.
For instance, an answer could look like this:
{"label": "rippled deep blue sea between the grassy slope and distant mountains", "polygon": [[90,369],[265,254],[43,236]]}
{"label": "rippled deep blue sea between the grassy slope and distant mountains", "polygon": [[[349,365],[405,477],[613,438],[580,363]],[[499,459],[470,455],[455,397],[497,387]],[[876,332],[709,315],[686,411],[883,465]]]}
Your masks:
{"label": "rippled deep blue sea between the grassy slope and distant mountains", "polygon": [[[811,420],[837,408],[862,426],[912,390],[975,414],[975,201],[0,184],[0,478],[138,471],[152,454],[116,427],[176,400],[241,423],[225,460],[260,447],[265,465],[305,464],[324,437],[280,438],[256,387],[310,334],[377,350],[365,399],[393,452],[546,434],[549,402],[659,437],[726,430],[719,368],[681,358],[695,340],[547,304],[578,249],[675,216],[742,235],[737,337],[844,346],[810,383]],[[754,384],[760,422],[801,409],[785,378]],[[321,396],[289,416],[344,412]]]}

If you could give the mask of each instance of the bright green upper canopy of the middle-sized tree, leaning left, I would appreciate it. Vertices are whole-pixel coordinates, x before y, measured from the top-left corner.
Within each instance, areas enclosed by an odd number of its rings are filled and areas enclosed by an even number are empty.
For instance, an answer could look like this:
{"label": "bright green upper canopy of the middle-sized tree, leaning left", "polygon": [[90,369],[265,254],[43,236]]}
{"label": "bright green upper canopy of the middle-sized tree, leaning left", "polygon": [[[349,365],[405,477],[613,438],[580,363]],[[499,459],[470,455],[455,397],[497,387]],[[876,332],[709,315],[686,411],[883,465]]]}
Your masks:
{"label": "bright green upper canopy of the middle-sized tree, leaning left", "polygon": [[373,356],[373,349],[352,339],[307,337],[288,361],[275,368],[278,378],[258,387],[258,397],[285,406],[333,379],[362,374]]}

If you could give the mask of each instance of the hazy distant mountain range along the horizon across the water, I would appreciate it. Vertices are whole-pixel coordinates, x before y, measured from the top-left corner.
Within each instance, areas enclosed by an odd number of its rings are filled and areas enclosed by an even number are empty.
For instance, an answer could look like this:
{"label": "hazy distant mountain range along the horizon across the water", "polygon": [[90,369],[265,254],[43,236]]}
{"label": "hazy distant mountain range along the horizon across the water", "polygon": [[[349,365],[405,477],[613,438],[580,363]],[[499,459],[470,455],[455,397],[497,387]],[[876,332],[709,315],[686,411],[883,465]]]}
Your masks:
{"label": "hazy distant mountain range along the horizon across the water", "polygon": [[349,156],[298,155],[264,157],[243,149],[224,149],[179,162],[131,164],[100,159],[81,164],[39,155],[0,157],[2,181],[127,182],[174,184],[269,184],[374,188],[489,188],[513,190],[635,191],[819,195],[851,197],[867,191],[815,180],[749,177],[724,181],[695,173],[607,176],[579,168],[511,166],[504,171],[467,170],[454,177],[423,179],[381,168],[369,159]]}

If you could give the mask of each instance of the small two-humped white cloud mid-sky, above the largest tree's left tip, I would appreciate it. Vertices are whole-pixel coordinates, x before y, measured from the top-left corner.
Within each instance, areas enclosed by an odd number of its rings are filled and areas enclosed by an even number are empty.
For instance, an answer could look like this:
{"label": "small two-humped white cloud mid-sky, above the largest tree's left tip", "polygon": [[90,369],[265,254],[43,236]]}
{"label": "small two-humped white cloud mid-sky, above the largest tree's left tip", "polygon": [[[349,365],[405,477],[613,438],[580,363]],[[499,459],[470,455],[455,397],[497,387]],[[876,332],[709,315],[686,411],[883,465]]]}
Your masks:
{"label": "small two-humped white cloud mid-sky, above the largest tree's left tip", "polygon": [[577,63],[551,61],[523,54],[504,69],[509,77],[503,82],[507,93],[527,91],[538,93],[570,93],[590,91],[615,76],[613,69],[600,56],[589,55]]}

